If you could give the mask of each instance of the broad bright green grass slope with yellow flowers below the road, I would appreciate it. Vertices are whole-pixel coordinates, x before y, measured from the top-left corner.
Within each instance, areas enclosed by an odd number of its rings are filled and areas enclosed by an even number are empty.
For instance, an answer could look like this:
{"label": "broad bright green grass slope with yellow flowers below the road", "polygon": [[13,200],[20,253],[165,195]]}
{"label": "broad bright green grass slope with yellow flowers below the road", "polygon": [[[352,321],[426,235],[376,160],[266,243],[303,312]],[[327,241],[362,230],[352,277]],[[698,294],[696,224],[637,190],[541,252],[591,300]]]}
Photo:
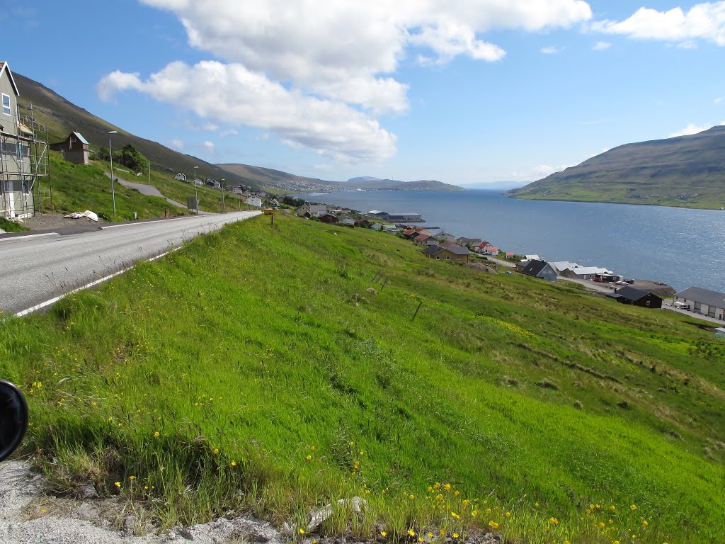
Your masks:
{"label": "broad bright green grass slope with yellow flowers below the road", "polygon": [[721,541],[725,349],[689,316],[281,216],[0,326],[51,482],[163,525],[359,495],[320,531]]}

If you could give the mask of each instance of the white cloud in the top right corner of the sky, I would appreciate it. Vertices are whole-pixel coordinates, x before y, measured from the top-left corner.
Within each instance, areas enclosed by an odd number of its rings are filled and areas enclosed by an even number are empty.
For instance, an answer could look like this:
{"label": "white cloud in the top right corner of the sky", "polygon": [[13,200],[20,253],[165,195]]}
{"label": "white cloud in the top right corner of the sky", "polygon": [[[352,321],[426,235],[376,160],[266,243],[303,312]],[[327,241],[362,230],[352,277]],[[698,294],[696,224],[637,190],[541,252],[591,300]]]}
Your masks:
{"label": "white cloud in the top right corner of the sky", "polygon": [[697,39],[725,46],[725,1],[695,4],[687,12],[676,7],[666,12],[641,7],[624,21],[595,22],[594,30],[629,38],[691,43]]}

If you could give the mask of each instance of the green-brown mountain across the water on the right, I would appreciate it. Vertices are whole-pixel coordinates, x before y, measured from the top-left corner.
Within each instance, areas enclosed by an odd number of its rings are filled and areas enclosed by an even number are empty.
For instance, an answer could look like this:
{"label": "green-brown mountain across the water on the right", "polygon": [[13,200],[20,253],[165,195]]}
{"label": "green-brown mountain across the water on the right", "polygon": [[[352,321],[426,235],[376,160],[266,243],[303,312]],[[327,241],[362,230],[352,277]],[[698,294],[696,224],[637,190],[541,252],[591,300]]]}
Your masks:
{"label": "green-brown mountain across the water on the right", "polygon": [[663,206],[725,206],[725,126],[610,149],[514,197]]}

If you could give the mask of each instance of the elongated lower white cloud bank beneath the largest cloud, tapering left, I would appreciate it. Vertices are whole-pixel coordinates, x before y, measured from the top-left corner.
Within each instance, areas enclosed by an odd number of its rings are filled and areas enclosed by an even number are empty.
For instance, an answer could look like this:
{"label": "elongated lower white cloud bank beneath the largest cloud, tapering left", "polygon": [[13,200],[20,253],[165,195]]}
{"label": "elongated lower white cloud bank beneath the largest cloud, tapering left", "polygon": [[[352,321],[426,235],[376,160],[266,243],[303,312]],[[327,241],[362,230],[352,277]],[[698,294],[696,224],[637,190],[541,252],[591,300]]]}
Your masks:
{"label": "elongated lower white cloud bank beneath the largest cloud, tapering left", "polygon": [[[199,91],[204,81],[204,92]],[[336,160],[378,162],[395,153],[395,136],[378,121],[347,104],[307,96],[242,65],[172,62],[141,81],[118,71],[98,84],[104,92],[133,88],[160,102],[188,108],[199,118],[248,125],[275,133],[293,147],[307,147]],[[108,94],[105,94],[108,96]]]}

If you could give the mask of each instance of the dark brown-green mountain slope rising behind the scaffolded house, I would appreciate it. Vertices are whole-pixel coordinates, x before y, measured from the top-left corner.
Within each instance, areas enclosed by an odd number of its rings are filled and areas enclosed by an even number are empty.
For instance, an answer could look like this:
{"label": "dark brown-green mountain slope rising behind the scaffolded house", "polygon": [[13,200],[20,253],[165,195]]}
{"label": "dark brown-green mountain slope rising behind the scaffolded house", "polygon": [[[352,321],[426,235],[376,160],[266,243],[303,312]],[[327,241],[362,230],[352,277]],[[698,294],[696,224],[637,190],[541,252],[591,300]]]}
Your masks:
{"label": "dark brown-green mountain slope rising behind the scaffolded house", "polygon": [[91,149],[108,147],[108,131],[117,131],[113,135],[114,149],[121,149],[130,142],[138,151],[152,162],[154,170],[165,171],[173,176],[177,172],[191,175],[194,166],[198,166],[200,177],[226,178],[228,185],[245,184],[259,187],[261,184],[252,178],[242,178],[235,174],[225,174],[217,165],[204,160],[169,149],[156,141],[147,140],[124,131],[107,121],[83,110],[55,91],[47,88],[37,81],[26,78],[19,73],[13,73],[15,83],[20,90],[20,113],[30,115],[30,104],[33,104],[33,115],[36,120],[48,124],[49,140],[51,143],[65,140],[71,131],[78,131],[91,144]]}

